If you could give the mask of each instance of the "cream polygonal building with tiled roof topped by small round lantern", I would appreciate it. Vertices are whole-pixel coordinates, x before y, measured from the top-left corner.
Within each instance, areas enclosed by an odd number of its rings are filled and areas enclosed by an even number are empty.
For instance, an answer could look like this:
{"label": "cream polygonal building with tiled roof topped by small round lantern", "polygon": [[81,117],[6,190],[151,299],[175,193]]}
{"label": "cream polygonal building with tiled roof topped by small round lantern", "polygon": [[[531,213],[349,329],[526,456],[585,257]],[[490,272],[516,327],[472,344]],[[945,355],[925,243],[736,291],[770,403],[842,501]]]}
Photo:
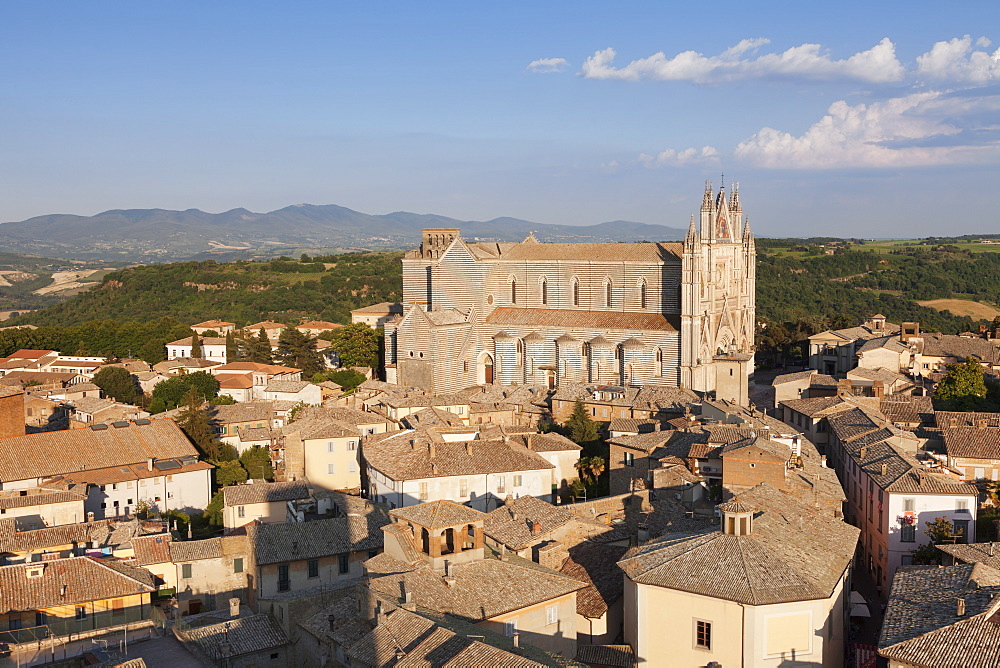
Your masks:
{"label": "cream polygonal building with tiled roof topped by small round lantern", "polygon": [[719,510],[721,530],[668,534],[618,562],[637,661],[843,666],[858,530],[767,483]]}

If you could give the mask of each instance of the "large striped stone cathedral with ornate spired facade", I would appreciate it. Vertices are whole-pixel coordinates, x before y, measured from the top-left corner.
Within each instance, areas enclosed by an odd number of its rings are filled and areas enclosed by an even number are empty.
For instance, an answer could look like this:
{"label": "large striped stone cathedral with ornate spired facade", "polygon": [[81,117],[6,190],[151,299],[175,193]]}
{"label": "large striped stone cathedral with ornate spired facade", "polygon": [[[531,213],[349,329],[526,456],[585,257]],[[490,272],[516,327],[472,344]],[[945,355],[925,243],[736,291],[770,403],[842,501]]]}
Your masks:
{"label": "large striped stone cathedral with ornate spired facade", "polygon": [[706,184],[683,243],[469,242],[427,229],[403,258],[386,380],[663,385],[747,403],[756,250],[738,187]]}

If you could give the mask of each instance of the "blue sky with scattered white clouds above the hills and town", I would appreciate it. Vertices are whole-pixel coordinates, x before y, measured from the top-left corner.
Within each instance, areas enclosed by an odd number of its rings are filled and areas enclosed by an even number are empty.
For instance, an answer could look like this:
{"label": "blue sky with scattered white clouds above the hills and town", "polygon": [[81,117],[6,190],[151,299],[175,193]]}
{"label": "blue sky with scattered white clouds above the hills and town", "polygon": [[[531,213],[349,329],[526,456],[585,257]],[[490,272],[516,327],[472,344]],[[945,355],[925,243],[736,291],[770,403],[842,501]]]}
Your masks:
{"label": "blue sky with scattered white clouds above the hills and town", "polygon": [[1000,232],[1000,3],[0,5],[0,221],[340,204]]}

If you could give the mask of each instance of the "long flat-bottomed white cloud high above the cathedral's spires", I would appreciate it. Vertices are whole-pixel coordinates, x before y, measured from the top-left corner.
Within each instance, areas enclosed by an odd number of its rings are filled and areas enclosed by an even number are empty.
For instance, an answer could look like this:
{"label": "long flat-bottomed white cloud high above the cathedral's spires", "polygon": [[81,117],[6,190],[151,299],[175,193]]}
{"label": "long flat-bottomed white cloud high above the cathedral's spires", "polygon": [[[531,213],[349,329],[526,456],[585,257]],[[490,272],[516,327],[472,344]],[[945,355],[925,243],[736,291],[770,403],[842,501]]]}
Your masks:
{"label": "long flat-bottomed white cloud high above the cathedral's spires", "polygon": [[844,60],[834,60],[822,53],[819,44],[802,44],[781,53],[767,53],[757,58],[743,57],[768,43],[769,40],[764,38],[744,39],[717,56],[683,51],[673,58],[667,58],[661,51],[648,58],[633,60],[620,68],[614,66],[617,52],[609,47],[587,58],[580,74],[587,79],[653,79],[695,83],[770,76],[884,83],[899,81],[904,76],[903,66],[896,59],[896,48],[887,37],[871,49]]}

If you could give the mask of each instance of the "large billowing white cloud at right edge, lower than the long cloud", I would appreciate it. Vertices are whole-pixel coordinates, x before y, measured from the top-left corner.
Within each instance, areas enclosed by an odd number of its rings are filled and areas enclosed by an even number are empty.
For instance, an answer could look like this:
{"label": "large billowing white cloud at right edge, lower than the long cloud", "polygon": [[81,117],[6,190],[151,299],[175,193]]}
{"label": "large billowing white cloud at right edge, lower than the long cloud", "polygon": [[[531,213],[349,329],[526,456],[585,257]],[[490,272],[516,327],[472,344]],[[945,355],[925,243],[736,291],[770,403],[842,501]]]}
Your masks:
{"label": "large billowing white cloud at right edge, lower than the long cloud", "polygon": [[[1000,158],[1000,145],[959,137],[975,117],[995,117],[1000,96],[914,93],[870,105],[833,103],[801,136],[763,128],[735,156],[771,168],[918,167]],[[964,121],[964,122],[963,122]],[[971,127],[963,127],[971,126]]]}

